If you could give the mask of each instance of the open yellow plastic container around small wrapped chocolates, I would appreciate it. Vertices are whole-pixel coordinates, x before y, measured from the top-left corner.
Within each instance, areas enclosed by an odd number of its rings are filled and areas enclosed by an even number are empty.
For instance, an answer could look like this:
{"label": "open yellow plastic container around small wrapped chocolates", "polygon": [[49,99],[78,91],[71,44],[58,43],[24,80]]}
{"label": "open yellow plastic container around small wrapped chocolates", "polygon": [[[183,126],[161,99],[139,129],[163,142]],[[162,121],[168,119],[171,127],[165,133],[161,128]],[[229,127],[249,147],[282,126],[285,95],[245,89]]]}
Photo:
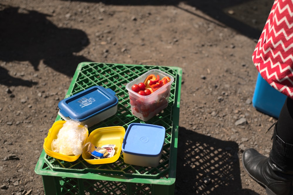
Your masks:
{"label": "open yellow plastic container around small wrapped chocolates", "polygon": [[117,161],[121,153],[124,135],[125,128],[122,126],[102,127],[93,130],[90,133],[90,135],[86,138],[84,143],[91,142],[96,147],[101,147],[106,144],[115,144],[116,146],[114,148],[114,156],[105,159],[91,159],[91,157],[87,155],[87,147],[84,147],[83,152],[81,154],[82,158],[89,164],[93,165],[113,163]]}

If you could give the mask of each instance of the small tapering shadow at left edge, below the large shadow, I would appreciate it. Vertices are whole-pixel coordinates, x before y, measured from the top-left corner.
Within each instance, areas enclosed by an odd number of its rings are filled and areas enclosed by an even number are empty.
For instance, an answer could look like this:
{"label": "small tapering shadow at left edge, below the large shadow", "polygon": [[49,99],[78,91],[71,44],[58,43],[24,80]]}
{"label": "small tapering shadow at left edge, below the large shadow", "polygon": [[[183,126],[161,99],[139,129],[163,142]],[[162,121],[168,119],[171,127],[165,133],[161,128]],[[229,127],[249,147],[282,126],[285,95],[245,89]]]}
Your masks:
{"label": "small tapering shadow at left edge, below the large shadow", "polygon": [[36,85],[37,82],[19,79],[8,74],[8,70],[0,66],[0,84],[6,86],[28,86]]}

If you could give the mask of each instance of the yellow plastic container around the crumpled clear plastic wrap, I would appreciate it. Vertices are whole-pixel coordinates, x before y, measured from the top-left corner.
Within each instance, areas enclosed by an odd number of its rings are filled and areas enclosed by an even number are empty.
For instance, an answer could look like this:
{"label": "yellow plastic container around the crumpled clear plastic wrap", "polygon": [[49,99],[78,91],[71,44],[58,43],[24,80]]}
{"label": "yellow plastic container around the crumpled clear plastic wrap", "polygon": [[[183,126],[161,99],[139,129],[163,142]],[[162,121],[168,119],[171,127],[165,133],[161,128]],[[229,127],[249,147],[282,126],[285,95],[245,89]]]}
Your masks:
{"label": "yellow plastic container around the crumpled clear plastic wrap", "polygon": [[[44,150],[48,156],[51,156],[51,157],[53,157],[55,159],[59,159],[59,160],[73,162],[73,161],[76,161],[80,155],[64,155],[64,154],[60,154],[58,152],[54,152],[51,148],[52,141],[54,139],[57,139],[57,134],[58,134],[59,130],[63,127],[63,124],[65,122],[66,121],[56,121],[53,123],[52,127],[49,129],[47,137],[45,138],[43,147],[44,147]],[[83,128],[84,126],[79,125],[79,127]],[[87,131],[86,137],[88,137],[88,131]]]}

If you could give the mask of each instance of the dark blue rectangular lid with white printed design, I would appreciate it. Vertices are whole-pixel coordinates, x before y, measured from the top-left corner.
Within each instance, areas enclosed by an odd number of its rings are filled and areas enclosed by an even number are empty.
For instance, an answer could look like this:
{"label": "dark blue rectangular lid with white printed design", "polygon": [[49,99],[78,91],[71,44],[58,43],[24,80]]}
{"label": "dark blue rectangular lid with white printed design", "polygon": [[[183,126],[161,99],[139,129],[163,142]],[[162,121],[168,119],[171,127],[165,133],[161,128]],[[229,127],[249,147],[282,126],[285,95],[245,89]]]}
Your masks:
{"label": "dark blue rectangular lid with white printed design", "polygon": [[110,88],[93,86],[61,100],[58,104],[64,117],[85,121],[118,104],[118,98]]}

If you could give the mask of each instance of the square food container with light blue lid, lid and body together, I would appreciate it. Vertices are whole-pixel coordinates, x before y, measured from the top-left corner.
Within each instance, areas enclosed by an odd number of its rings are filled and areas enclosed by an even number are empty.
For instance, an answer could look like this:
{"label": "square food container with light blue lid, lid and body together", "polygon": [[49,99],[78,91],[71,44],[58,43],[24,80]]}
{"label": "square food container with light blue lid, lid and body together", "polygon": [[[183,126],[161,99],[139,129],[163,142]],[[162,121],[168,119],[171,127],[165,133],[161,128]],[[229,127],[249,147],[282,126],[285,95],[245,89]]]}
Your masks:
{"label": "square food container with light blue lid, lid and body together", "polygon": [[122,143],[124,162],[145,167],[158,166],[162,156],[165,131],[163,126],[131,123]]}

